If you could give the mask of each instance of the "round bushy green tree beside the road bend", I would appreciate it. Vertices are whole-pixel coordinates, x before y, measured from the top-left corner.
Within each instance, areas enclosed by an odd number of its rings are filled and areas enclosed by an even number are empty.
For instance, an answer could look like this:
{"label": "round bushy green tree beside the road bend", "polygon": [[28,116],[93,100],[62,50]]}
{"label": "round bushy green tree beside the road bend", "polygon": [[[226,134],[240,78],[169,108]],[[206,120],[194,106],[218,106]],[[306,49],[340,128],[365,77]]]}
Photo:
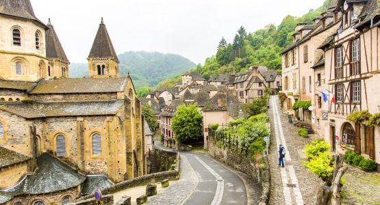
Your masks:
{"label": "round bushy green tree beside the road bend", "polygon": [[180,105],[172,121],[172,130],[178,143],[186,143],[198,139],[202,131],[202,115],[197,104]]}

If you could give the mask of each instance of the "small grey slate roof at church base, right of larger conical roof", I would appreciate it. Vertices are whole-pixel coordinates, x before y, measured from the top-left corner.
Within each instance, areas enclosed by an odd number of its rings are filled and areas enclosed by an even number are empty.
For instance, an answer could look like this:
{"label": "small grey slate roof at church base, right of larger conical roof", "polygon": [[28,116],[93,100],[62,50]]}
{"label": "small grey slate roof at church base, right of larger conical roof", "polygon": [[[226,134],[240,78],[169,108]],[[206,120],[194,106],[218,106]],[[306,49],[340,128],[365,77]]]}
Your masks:
{"label": "small grey slate roof at church base, right of larger conical roof", "polygon": [[103,190],[111,187],[114,183],[104,175],[88,175],[81,187],[81,195],[89,195],[93,191]]}

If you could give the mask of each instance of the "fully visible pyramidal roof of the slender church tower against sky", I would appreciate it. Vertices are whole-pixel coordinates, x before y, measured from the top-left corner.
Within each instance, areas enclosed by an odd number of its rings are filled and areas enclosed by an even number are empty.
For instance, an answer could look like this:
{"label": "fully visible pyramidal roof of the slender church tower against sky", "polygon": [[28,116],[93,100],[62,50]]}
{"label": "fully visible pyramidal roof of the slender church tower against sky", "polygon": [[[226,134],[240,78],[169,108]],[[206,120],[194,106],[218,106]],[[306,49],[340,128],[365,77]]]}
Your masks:
{"label": "fully visible pyramidal roof of the slender church tower against sky", "polygon": [[118,61],[114,46],[112,46],[110,36],[103,23],[103,18],[101,18],[97,36],[95,37],[88,57],[114,57],[114,59]]}

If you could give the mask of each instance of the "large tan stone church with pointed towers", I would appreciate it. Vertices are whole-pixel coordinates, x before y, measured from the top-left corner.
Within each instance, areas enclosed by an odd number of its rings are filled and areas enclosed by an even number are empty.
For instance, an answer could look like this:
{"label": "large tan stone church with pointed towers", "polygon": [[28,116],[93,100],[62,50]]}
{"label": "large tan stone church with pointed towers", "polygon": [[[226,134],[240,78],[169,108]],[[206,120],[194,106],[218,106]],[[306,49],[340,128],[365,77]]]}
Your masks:
{"label": "large tan stone church with pointed towers", "polygon": [[140,101],[103,19],[83,79],[29,0],[0,0],[0,22],[0,204],[68,204],[142,176]]}

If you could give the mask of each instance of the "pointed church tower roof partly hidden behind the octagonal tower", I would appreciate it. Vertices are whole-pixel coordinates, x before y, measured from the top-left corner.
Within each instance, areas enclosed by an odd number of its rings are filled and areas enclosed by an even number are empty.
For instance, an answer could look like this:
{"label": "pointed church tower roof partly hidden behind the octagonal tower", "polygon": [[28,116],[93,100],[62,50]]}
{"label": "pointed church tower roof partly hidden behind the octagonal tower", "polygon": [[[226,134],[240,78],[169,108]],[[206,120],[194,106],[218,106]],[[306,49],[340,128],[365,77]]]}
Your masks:
{"label": "pointed church tower roof partly hidden behind the octagonal tower", "polygon": [[49,27],[49,29],[45,31],[46,57],[58,58],[62,61],[68,62],[66,53],[64,53],[64,49],[62,48],[62,44],[60,43],[60,40],[58,39],[57,33],[55,33],[54,27],[50,23],[50,18],[49,18],[49,23],[47,23],[47,27]]}

